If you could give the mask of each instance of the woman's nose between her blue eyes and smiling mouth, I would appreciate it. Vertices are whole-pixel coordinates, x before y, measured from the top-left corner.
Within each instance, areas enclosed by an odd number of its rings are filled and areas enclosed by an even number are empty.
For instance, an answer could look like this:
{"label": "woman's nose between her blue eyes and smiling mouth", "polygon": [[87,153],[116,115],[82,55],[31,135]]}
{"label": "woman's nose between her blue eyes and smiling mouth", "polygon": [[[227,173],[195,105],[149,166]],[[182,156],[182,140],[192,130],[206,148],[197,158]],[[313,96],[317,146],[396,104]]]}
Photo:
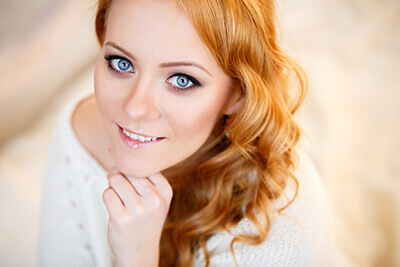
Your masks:
{"label": "woman's nose between her blue eyes and smiling mouth", "polygon": [[125,101],[124,110],[133,120],[157,120],[161,116],[151,81],[137,81]]}

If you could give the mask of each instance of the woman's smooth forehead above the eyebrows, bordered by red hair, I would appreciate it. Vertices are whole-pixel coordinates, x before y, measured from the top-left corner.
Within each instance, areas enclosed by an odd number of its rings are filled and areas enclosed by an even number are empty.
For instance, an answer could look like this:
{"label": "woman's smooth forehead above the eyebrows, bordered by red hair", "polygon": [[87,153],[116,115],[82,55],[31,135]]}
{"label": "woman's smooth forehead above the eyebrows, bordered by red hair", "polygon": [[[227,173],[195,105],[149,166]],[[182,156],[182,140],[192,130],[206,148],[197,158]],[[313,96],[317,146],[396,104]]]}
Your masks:
{"label": "woman's smooth forehead above the eyebrows, bordered by red hair", "polygon": [[107,41],[146,60],[213,61],[189,17],[170,0],[114,0],[108,13]]}

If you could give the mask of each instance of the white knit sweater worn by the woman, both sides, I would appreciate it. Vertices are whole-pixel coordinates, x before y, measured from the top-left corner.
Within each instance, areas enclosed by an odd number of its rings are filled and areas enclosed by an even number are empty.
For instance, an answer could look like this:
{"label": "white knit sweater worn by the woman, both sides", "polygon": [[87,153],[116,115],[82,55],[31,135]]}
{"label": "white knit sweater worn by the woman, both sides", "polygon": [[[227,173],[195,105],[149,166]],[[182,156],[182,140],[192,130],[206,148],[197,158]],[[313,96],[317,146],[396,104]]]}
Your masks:
{"label": "white knit sweater worn by the woman, both sides", "polygon": [[[44,183],[39,231],[39,266],[113,266],[114,255],[107,243],[108,212],[102,194],[108,187],[107,172],[78,141],[71,114],[77,100],[63,110],[53,132]],[[300,153],[295,172],[299,181],[296,200],[284,210],[291,219],[277,213],[267,240],[259,246],[236,242],[239,266],[334,266],[335,246],[330,205],[326,191],[310,159]],[[274,202],[283,207],[294,193]],[[243,219],[232,233],[255,233]],[[230,241],[220,232],[207,246],[211,266],[235,266]],[[205,266],[200,249],[194,266]]]}

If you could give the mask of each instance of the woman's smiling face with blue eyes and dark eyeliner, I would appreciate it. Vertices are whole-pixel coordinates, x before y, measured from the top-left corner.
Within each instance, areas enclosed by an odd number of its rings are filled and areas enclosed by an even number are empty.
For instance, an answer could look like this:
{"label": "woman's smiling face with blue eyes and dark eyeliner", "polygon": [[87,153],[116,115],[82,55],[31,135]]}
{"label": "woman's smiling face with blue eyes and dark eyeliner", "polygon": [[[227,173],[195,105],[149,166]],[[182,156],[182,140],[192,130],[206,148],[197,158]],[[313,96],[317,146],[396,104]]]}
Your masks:
{"label": "woman's smiling face with blue eyes and dark eyeliner", "polygon": [[116,166],[133,177],[188,158],[234,112],[229,77],[183,10],[171,7],[170,0],[114,0],[95,70]]}

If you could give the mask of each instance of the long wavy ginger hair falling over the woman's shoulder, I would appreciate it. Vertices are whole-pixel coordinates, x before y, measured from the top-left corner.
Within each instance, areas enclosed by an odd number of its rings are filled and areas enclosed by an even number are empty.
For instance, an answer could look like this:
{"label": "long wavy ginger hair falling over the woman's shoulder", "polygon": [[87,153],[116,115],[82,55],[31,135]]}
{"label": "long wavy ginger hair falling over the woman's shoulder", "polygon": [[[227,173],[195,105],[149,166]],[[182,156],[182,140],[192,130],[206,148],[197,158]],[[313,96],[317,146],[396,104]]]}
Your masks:
{"label": "long wavy ginger hair falling over the woman's shoulder", "polygon": [[[172,0],[174,4],[175,1]],[[234,235],[234,242],[259,245],[273,223],[272,202],[289,180],[297,197],[296,144],[302,130],[294,114],[304,101],[303,69],[279,46],[273,0],[176,0],[218,65],[240,90],[242,105],[217,123],[206,143],[169,172],[174,190],[160,243],[160,266],[190,266],[207,240],[230,232],[243,218],[257,234]],[[111,0],[99,0],[96,34],[103,43]],[[185,164],[192,164],[187,166]],[[165,174],[166,175],[166,174]],[[236,262],[237,263],[237,262]]]}

